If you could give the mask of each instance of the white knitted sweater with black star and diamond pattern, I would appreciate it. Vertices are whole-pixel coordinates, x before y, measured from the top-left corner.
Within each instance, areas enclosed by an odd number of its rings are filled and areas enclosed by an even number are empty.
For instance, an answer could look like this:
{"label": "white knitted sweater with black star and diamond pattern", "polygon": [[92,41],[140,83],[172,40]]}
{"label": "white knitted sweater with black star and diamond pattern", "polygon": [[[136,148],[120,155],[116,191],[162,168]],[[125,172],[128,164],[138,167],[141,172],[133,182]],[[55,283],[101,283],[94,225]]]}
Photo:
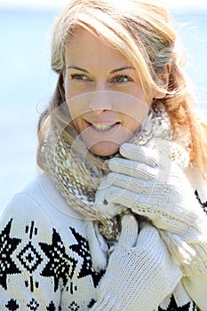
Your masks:
{"label": "white knitted sweater with black star and diamond pattern", "polygon": [[[83,216],[68,206],[45,173],[5,207],[0,227],[0,310],[115,310],[97,302],[102,275],[92,269]],[[201,280],[194,286],[196,297],[206,288]],[[196,307],[180,282],[156,310]]]}

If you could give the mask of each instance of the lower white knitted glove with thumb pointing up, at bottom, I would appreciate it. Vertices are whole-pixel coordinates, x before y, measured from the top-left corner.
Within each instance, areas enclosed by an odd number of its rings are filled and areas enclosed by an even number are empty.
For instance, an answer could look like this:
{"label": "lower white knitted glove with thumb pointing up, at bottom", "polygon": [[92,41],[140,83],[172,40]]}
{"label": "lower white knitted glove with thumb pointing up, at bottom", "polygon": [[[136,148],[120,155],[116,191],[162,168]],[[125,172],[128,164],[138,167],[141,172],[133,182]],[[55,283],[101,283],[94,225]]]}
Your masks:
{"label": "lower white knitted glove with thumb pointing up, at bottom", "polygon": [[155,227],[124,215],[119,242],[98,288],[92,311],[152,311],[181,278]]}

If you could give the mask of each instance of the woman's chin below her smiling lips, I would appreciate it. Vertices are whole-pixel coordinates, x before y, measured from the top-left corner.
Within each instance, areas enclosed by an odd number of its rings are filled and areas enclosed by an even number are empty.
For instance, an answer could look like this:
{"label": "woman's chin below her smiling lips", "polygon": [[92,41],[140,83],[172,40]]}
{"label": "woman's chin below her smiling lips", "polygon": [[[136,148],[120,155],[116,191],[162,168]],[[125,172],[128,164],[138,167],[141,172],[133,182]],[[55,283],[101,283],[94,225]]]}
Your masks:
{"label": "woman's chin below her smiling lips", "polygon": [[95,156],[113,156],[119,151],[120,146],[114,142],[104,141],[97,143],[90,148]]}

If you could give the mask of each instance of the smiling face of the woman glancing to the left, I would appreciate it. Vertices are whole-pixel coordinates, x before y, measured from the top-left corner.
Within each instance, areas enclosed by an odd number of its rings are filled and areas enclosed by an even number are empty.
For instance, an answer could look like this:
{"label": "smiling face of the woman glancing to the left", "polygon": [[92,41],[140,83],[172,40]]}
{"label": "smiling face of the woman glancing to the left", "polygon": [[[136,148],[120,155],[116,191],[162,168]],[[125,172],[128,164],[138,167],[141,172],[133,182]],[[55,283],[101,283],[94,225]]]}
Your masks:
{"label": "smiling face of the woman glancing to the left", "polygon": [[66,46],[65,60],[64,88],[76,131],[94,155],[114,155],[151,105],[135,68],[84,28]]}

